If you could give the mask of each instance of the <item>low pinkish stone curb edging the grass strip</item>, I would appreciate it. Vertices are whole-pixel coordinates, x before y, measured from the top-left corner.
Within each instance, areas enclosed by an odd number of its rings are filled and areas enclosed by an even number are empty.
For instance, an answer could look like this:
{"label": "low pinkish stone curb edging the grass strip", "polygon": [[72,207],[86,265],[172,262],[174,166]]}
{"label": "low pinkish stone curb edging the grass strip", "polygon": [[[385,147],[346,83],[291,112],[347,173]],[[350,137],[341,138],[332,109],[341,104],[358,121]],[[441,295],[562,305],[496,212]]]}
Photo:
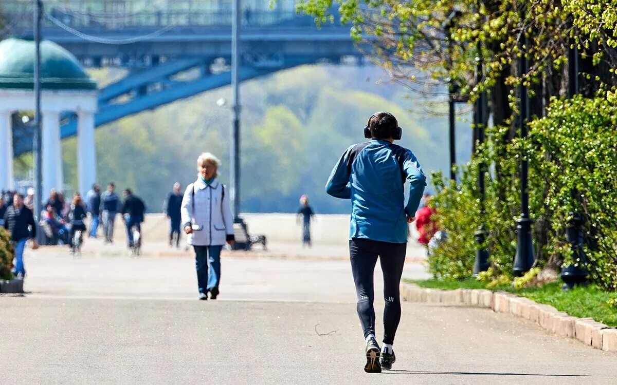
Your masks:
{"label": "low pinkish stone curb edging the grass strip", "polygon": [[403,301],[481,307],[497,313],[509,313],[537,323],[540,328],[558,336],[576,338],[596,349],[617,352],[617,328],[595,322],[592,318],[573,317],[552,306],[505,291],[425,289],[410,283],[401,283],[400,291]]}

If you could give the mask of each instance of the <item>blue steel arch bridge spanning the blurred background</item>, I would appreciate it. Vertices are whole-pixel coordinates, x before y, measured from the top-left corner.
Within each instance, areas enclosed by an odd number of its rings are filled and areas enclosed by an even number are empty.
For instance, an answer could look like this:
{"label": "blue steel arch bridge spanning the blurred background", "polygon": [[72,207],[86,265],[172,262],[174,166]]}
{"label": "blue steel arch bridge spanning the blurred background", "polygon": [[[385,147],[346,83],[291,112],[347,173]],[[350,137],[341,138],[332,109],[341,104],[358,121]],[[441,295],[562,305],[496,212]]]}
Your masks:
{"label": "blue steel arch bridge spanning the blurred background", "polygon": [[[241,81],[310,63],[362,63],[349,26],[317,28],[294,0],[243,2]],[[120,67],[99,94],[97,127],[231,83],[231,0],[46,0],[43,38],[86,67]],[[15,36],[31,36],[31,1],[3,0]],[[62,138],[77,123],[65,114]],[[27,133],[24,133],[27,137]],[[15,155],[31,140],[15,138]],[[24,138],[25,139],[25,138]]]}

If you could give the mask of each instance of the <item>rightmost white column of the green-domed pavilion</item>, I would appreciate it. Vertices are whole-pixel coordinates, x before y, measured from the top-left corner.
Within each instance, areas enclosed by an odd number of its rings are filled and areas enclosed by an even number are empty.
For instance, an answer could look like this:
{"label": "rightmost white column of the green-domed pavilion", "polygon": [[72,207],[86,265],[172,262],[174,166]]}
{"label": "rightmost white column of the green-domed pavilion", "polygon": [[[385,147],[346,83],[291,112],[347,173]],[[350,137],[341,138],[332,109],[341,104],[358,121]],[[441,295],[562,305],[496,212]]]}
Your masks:
{"label": "rightmost white column of the green-domed pavilion", "polygon": [[94,113],[77,111],[77,177],[82,197],[96,182],[96,146],[94,145]]}

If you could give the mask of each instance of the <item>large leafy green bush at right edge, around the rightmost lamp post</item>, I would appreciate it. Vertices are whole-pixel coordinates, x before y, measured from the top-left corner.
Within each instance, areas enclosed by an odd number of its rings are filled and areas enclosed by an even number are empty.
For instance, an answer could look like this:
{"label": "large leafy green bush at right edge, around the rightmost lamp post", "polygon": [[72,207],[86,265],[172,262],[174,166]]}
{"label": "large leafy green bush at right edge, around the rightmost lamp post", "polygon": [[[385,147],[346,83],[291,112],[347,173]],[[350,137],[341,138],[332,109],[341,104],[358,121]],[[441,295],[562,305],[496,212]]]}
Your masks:
{"label": "large leafy green bush at right edge, around the rightmost lamp post", "polygon": [[[530,124],[534,167],[545,180],[552,224],[564,233],[574,212],[587,221],[586,254],[592,279],[617,290],[617,105],[603,97],[553,99],[547,116]],[[575,192],[574,194],[572,192]],[[563,239],[550,246],[571,253]]]}

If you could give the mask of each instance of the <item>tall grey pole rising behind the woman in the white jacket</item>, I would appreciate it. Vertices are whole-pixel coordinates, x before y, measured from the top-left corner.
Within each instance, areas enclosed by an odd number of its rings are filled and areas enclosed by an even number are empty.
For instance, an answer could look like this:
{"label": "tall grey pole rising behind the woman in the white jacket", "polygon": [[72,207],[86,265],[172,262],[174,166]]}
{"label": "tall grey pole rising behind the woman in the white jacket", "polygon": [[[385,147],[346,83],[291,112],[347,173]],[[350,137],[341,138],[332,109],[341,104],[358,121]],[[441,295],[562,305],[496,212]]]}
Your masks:
{"label": "tall grey pole rising behind the woman in the white jacket", "polygon": [[231,126],[231,180],[234,222],[240,222],[240,0],[232,3],[231,19],[231,87],[233,89],[233,121]]}

